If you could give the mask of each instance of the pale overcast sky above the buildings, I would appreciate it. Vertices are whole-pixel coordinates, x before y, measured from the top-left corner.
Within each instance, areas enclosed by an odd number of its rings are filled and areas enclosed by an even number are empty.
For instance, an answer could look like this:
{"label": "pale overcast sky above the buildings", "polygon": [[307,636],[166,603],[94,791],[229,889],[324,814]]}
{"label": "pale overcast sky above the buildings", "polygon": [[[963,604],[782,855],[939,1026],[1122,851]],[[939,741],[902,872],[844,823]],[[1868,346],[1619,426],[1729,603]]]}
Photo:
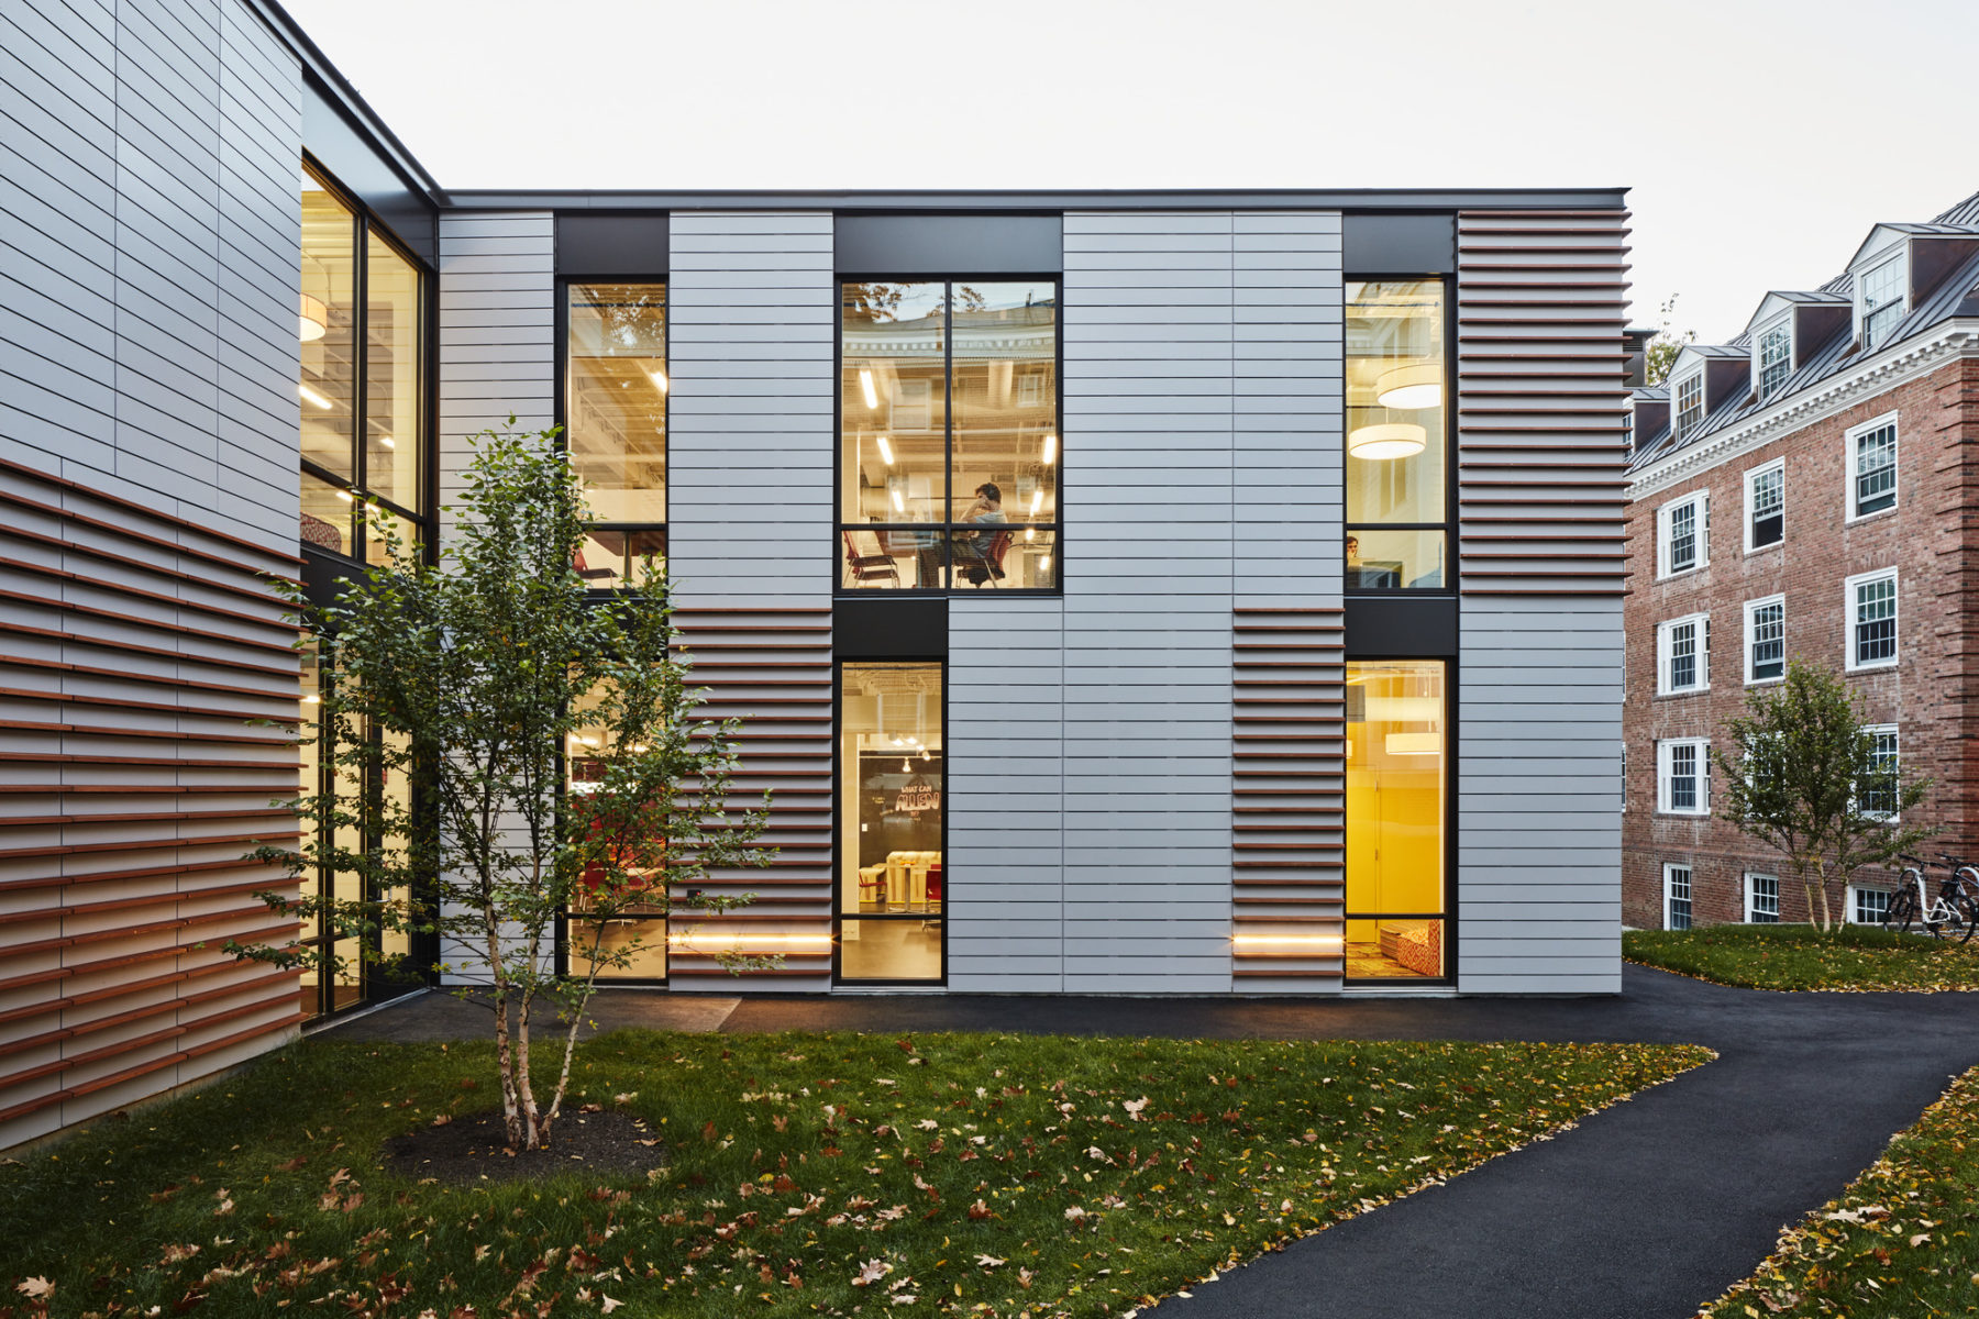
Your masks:
{"label": "pale overcast sky above the buildings", "polygon": [[1979,0],[287,0],[447,188],[1627,186],[1738,334],[1979,192]]}

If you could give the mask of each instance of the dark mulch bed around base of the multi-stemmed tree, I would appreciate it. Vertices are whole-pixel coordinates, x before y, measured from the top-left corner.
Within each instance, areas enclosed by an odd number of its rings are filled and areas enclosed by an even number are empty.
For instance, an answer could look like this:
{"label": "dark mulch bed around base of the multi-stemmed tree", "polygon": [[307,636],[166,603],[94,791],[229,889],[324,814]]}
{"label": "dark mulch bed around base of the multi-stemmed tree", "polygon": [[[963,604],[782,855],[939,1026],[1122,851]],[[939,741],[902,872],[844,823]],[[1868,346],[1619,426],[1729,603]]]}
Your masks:
{"label": "dark mulch bed around base of the multi-stemmed tree", "polygon": [[631,1113],[612,1109],[560,1113],[546,1149],[509,1149],[501,1111],[469,1113],[437,1127],[420,1127],[384,1143],[384,1167],[402,1177],[437,1179],[449,1187],[524,1181],[586,1171],[606,1177],[645,1177],[667,1165],[667,1147]]}

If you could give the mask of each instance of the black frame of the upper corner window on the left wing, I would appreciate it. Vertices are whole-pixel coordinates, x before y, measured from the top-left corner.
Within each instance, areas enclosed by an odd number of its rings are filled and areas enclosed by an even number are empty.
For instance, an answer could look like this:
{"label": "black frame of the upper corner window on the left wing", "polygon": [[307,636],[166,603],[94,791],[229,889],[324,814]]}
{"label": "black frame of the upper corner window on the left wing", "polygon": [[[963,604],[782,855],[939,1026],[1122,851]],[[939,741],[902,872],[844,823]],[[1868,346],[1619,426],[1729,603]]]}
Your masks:
{"label": "black frame of the upper corner window on the left wing", "polygon": [[[364,518],[356,516],[356,512],[358,512],[358,508],[362,504],[376,504],[376,506],[384,508],[386,512],[394,514],[396,518],[400,518],[402,522],[412,524],[416,528],[416,534],[418,534],[420,556],[425,558],[427,562],[435,562],[431,556],[435,554],[433,526],[435,526],[435,502],[437,502],[437,496],[439,496],[439,443],[437,443],[437,435],[439,435],[439,417],[437,417],[437,411],[439,411],[439,390],[437,390],[437,374],[439,374],[439,277],[437,277],[437,271],[433,271],[431,265],[427,265],[418,255],[414,255],[412,247],[408,247],[404,241],[400,241],[400,237],[396,233],[392,233],[390,225],[386,225],[384,221],[380,221],[370,212],[370,208],[366,208],[364,202],[354,192],[350,192],[340,182],[336,182],[336,176],[330,174],[330,170],[327,166],[323,166],[307,150],[301,154],[301,168],[317,184],[321,184],[325,192],[329,192],[332,198],[336,198],[336,202],[340,206],[344,206],[344,210],[350,212],[350,251],[352,251],[350,303],[356,308],[360,308],[360,312],[364,312],[368,316],[368,308],[370,308],[370,259],[368,259],[368,255],[370,255],[370,243],[368,243],[368,239],[372,239],[372,237],[380,239],[386,247],[390,247],[394,253],[398,253],[398,257],[404,259],[420,275],[420,397],[418,397],[418,403],[416,403],[416,411],[418,411],[418,417],[420,417],[420,473],[418,473],[418,481],[420,481],[420,506],[425,512],[414,512],[414,510],[406,508],[404,504],[400,504],[396,500],[390,500],[390,498],[386,498],[386,496],[382,496],[382,494],[378,494],[378,492],[374,492],[370,488],[370,471],[368,471],[370,469],[370,445],[364,443],[364,433],[362,433],[362,427],[364,427],[366,417],[370,413],[370,407],[368,407],[368,403],[370,403],[370,397],[368,397],[368,392],[370,392],[370,360],[368,360],[370,358],[370,332],[368,330],[370,330],[370,326],[368,324],[360,324],[358,326],[358,334],[352,340],[352,354],[354,354],[354,360],[352,360],[354,378],[352,378],[352,397],[350,397],[350,415],[352,415],[352,429],[350,429],[350,449],[352,449],[352,453],[350,453],[350,473],[352,475],[346,481],[344,477],[338,477],[330,469],[323,467],[321,463],[313,463],[313,461],[297,455],[297,465],[299,465],[299,471],[301,471],[303,477],[313,477],[317,481],[323,481],[325,484],[330,484],[330,486],[334,486],[334,488],[344,490],[344,492],[350,494],[352,512],[350,512],[350,524],[344,530],[350,534],[350,550],[352,552],[350,554],[340,554],[336,550],[329,550],[325,546],[319,546],[319,544],[315,544],[311,540],[301,540],[301,536],[297,536],[297,540],[307,550],[313,550],[317,554],[325,554],[332,562],[350,562],[350,564],[360,564],[360,566],[368,564],[370,562],[368,560],[370,546],[366,544],[366,534],[368,532],[366,532],[366,526],[364,526]],[[301,376],[297,376],[297,384],[301,384]]]}

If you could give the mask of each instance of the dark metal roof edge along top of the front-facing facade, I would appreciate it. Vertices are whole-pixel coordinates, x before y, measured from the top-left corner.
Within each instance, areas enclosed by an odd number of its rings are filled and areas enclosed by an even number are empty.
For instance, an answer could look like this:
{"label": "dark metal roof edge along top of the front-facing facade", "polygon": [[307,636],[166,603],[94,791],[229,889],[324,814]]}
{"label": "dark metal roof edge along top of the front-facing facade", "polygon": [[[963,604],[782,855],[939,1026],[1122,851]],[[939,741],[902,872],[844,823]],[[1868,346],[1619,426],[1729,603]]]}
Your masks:
{"label": "dark metal roof edge along top of the front-facing facade", "polygon": [[497,190],[439,192],[449,210],[1623,210],[1627,188],[1067,188],[1067,190]]}

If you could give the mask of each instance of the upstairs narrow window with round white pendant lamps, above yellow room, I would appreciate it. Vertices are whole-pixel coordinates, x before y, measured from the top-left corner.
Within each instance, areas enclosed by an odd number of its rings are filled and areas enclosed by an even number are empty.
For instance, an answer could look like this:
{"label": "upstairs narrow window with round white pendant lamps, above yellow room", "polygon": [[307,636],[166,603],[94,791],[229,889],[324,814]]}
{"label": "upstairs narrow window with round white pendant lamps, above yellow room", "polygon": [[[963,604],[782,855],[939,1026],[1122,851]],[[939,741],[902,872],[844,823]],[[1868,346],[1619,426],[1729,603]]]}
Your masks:
{"label": "upstairs narrow window with round white pendant lamps, above yellow room", "polygon": [[1346,589],[1447,591],[1441,279],[1346,283]]}

